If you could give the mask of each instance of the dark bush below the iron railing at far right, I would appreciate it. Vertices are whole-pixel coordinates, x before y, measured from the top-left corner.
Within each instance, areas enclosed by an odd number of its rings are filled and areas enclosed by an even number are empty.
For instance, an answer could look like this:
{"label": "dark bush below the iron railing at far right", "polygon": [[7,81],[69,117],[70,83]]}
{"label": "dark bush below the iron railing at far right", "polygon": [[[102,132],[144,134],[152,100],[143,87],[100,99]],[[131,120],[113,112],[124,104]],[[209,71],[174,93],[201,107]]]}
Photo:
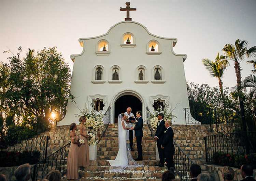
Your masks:
{"label": "dark bush below the iron railing at far right", "polygon": [[256,157],[254,154],[229,154],[215,152],[213,154],[213,164],[240,168],[243,164],[251,164],[256,169]]}

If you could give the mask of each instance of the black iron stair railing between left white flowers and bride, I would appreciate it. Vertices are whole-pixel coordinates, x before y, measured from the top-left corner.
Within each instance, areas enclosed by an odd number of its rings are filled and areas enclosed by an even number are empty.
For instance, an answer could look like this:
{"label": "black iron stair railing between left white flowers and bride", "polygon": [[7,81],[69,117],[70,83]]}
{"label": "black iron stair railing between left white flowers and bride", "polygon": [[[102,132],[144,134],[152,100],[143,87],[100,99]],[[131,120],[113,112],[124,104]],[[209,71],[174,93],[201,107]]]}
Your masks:
{"label": "black iron stair railing between left white flowers and bride", "polygon": [[103,126],[99,129],[95,129],[92,130],[91,133],[95,134],[96,136],[96,143],[98,144],[100,142],[100,139],[102,138],[102,136],[105,135],[106,129],[108,128],[109,124],[110,124],[110,106],[109,108],[106,110],[104,116],[103,116]]}

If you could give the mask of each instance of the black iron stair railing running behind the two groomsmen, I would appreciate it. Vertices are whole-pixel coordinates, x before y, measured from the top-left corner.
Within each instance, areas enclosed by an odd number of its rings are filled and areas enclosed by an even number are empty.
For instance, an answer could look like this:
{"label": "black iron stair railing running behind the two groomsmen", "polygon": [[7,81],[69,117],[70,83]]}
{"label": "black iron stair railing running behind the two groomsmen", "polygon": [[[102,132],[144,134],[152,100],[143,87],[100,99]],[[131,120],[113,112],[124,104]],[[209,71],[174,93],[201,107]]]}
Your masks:
{"label": "black iron stair railing running behind the two groomsmen", "polygon": [[[150,120],[148,119],[147,125],[148,128],[150,129],[151,136],[154,136],[156,129],[151,127]],[[188,181],[191,179],[189,175],[189,168],[191,164],[193,164],[194,162],[188,157],[184,150],[175,141],[173,141],[173,144],[175,147],[175,153],[173,155],[175,171],[180,176],[181,180]]]}

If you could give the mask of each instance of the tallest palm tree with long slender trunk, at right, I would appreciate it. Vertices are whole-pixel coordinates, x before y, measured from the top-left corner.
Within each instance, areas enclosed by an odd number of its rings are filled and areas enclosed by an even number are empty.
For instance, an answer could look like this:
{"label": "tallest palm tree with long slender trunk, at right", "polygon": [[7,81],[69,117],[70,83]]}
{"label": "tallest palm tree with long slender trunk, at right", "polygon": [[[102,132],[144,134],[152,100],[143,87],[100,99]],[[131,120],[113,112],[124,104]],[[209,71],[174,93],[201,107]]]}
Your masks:
{"label": "tallest palm tree with long slender trunk, at right", "polygon": [[237,77],[237,91],[239,96],[240,102],[240,109],[241,109],[241,116],[243,122],[243,130],[246,131],[246,121],[244,115],[244,103],[242,98],[242,91],[241,91],[241,67],[240,62],[245,59],[245,57],[252,57],[256,55],[256,46],[247,48],[248,42],[246,40],[237,39],[235,45],[226,44],[222,51],[225,53],[225,59],[232,60],[234,62],[234,68]]}

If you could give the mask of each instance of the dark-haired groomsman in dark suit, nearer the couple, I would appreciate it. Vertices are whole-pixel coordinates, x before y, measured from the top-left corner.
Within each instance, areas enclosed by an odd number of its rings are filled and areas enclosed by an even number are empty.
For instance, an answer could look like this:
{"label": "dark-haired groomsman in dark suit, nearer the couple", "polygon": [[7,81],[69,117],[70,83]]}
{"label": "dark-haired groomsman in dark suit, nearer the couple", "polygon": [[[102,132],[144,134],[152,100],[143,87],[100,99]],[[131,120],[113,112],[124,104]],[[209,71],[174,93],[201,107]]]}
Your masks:
{"label": "dark-haired groomsman in dark suit, nearer the couple", "polygon": [[164,157],[164,150],[161,148],[162,142],[163,142],[163,137],[165,136],[165,120],[163,120],[163,114],[160,113],[158,114],[158,126],[156,129],[156,134],[154,136],[156,143],[157,143],[157,149],[158,149],[158,154],[159,154],[159,164],[156,166],[159,167],[164,167],[165,166],[165,157]]}

